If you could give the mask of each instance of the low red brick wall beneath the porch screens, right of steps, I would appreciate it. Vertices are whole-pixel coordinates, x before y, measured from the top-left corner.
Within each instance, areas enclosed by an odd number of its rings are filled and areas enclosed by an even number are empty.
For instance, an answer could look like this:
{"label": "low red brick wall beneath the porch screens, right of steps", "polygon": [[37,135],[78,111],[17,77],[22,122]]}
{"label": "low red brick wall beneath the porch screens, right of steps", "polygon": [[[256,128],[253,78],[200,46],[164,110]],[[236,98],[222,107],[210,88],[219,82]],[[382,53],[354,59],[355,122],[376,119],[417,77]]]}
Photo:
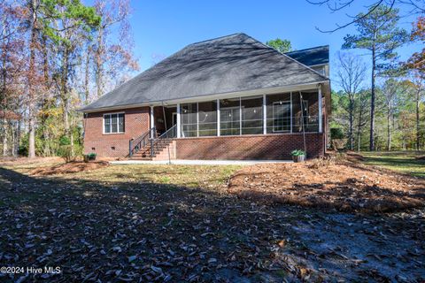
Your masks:
{"label": "low red brick wall beneath the porch screens, right of steps", "polygon": [[[324,154],[323,134],[306,133],[307,157]],[[268,134],[182,138],[176,140],[177,159],[290,159],[304,149],[303,134]]]}

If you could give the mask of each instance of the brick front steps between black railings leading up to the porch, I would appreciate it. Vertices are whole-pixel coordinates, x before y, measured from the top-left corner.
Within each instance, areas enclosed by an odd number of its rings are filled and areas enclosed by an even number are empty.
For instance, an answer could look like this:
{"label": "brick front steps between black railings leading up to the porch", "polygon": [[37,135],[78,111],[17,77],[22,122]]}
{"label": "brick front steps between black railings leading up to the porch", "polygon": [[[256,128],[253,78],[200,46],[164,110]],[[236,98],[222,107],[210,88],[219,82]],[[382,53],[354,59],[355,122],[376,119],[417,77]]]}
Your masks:
{"label": "brick front steps between black railings leading up to the porch", "polygon": [[139,151],[135,152],[132,157],[129,159],[131,160],[152,160],[152,161],[158,161],[158,160],[168,160],[168,159],[175,159],[175,141],[164,139],[158,141],[154,145],[153,150],[153,157],[151,157],[151,144],[143,147]]}

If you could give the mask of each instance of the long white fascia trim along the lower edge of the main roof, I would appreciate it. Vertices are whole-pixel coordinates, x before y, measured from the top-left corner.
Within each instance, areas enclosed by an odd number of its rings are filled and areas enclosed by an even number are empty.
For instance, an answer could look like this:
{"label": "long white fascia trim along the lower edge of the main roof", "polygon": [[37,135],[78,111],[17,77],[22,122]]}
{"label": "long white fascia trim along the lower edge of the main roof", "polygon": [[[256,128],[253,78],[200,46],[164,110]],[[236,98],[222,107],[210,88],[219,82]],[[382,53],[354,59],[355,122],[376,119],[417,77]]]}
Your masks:
{"label": "long white fascia trim along the lower edge of the main roof", "polygon": [[194,102],[204,102],[204,101],[212,101],[215,99],[224,99],[224,98],[234,98],[234,97],[244,97],[244,96],[259,96],[259,95],[274,95],[279,94],[282,92],[290,92],[292,90],[298,91],[298,90],[313,90],[317,89],[317,85],[320,83],[329,82],[329,80],[321,80],[316,81],[312,83],[303,83],[303,84],[296,84],[296,85],[290,85],[285,87],[277,87],[277,88],[257,88],[257,89],[250,89],[250,90],[243,90],[243,91],[236,91],[236,92],[227,92],[222,94],[213,94],[213,95],[206,95],[206,96],[193,96],[188,98],[181,98],[181,99],[173,99],[173,100],[160,100],[156,102],[150,102],[150,103],[133,103],[133,104],[127,104],[127,105],[118,105],[118,106],[112,106],[112,107],[104,107],[104,108],[98,108],[94,110],[84,111],[79,110],[84,113],[90,113],[90,112],[100,112],[100,111],[113,111],[113,110],[122,110],[122,109],[128,109],[128,108],[135,108],[135,107],[142,107],[142,106],[150,106],[150,105],[156,105],[160,106],[162,104],[170,105],[170,104],[177,104],[177,103],[194,103]]}

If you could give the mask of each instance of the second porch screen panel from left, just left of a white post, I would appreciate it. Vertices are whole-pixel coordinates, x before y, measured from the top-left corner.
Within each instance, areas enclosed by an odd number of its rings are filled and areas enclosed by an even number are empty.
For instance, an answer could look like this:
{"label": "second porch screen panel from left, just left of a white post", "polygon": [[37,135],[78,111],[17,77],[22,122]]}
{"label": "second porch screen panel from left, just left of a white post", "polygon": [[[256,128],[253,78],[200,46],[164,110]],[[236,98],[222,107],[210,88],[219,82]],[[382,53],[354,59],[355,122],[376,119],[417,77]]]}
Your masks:
{"label": "second porch screen panel from left, just left of a white post", "polygon": [[217,102],[198,103],[199,136],[217,135]]}

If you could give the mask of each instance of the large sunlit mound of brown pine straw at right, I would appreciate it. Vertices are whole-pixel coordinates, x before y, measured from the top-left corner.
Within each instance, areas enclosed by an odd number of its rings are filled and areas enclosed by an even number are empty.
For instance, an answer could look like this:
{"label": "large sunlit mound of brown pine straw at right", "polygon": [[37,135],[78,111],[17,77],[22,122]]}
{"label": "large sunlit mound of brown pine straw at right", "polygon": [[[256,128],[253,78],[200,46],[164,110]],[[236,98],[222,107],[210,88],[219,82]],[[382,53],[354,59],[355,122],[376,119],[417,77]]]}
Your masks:
{"label": "large sunlit mound of brown pine straw at right", "polygon": [[347,212],[391,212],[425,204],[425,180],[324,159],[244,167],[230,178],[228,191],[266,203]]}

